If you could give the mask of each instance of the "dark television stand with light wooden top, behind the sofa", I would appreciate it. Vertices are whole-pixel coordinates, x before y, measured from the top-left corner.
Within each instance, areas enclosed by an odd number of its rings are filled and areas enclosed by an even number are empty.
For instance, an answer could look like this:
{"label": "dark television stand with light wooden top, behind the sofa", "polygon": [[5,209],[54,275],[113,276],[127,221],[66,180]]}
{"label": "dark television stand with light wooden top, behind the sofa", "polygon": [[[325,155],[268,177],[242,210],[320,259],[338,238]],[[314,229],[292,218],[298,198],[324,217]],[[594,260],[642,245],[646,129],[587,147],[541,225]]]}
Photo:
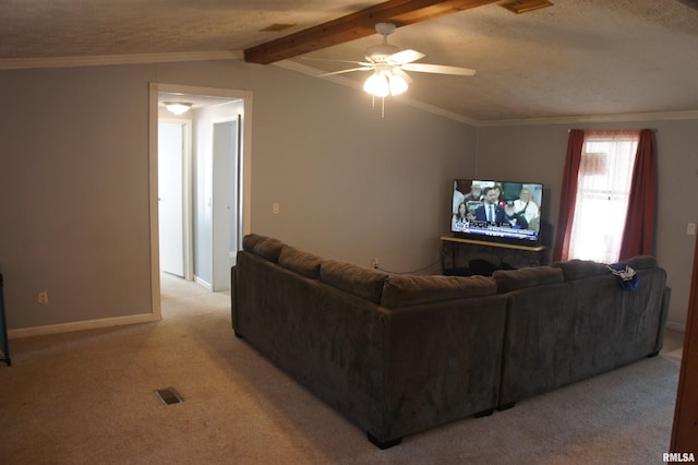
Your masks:
{"label": "dark television stand with light wooden top, behind the sofa", "polygon": [[545,246],[527,247],[474,239],[441,238],[443,274],[491,274],[471,270],[471,263],[489,262],[496,269],[521,269],[547,264]]}

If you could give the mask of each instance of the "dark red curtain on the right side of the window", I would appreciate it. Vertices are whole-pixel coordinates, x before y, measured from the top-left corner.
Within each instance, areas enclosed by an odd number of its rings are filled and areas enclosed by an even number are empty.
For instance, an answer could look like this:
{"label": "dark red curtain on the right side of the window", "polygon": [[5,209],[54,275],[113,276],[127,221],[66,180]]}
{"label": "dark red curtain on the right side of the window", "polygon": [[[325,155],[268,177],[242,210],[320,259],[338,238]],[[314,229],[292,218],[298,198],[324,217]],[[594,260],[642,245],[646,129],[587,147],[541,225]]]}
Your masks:
{"label": "dark red curtain on the right side of the window", "polygon": [[657,213],[657,156],[654,131],[643,129],[637,144],[621,260],[653,254]]}

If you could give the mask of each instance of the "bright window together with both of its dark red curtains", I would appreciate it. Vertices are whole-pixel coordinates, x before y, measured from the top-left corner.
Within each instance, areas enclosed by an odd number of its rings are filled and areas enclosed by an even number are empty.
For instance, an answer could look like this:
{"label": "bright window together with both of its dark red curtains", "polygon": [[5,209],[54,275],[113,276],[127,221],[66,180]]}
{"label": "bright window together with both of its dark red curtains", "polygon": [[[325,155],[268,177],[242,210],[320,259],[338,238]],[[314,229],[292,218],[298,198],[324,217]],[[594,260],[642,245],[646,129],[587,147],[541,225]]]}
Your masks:
{"label": "bright window together with both of its dark red curtains", "polygon": [[562,181],[553,261],[616,262],[654,254],[653,130],[569,130]]}

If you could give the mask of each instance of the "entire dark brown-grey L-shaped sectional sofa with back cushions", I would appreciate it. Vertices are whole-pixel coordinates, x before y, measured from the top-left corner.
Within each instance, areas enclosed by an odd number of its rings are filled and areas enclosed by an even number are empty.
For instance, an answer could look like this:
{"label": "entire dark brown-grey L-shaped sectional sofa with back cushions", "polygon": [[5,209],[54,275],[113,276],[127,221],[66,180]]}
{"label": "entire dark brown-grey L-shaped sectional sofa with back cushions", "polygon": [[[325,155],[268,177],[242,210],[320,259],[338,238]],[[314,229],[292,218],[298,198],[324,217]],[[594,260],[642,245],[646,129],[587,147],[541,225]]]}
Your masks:
{"label": "entire dark brown-grey L-shaped sectional sofa with back cushions", "polygon": [[232,327],[385,449],[658,353],[665,273],[633,264],[633,291],[591,262],[395,276],[249,235]]}

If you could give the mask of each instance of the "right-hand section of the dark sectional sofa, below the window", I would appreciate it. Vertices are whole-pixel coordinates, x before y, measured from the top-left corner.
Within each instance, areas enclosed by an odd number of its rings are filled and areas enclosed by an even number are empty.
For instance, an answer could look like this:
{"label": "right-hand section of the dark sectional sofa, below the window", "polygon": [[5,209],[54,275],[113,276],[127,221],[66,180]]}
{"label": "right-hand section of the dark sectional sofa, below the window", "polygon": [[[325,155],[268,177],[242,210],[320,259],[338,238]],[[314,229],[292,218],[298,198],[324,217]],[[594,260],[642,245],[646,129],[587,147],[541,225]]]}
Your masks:
{"label": "right-hand section of the dark sectional sofa, below the window", "polygon": [[493,273],[507,298],[500,409],[659,354],[671,296],[666,272],[648,255],[624,263],[637,273],[635,290],[590,261]]}

